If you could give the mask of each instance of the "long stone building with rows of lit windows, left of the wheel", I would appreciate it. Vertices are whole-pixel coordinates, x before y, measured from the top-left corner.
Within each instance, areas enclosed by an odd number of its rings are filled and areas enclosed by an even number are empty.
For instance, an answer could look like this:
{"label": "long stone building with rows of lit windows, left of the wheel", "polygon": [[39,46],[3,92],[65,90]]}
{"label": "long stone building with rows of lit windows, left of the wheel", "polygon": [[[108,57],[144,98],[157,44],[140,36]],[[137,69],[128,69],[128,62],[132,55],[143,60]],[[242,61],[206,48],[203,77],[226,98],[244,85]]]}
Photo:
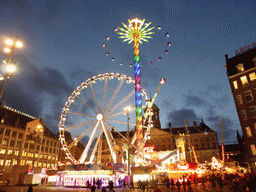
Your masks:
{"label": "long stone building with rows of lit windows, left of the wheel", "polygon": [[2,182],[23,184],[28,173],[56,168],[60,142],[42,122],[28,114],[0,105],[0,172]]}

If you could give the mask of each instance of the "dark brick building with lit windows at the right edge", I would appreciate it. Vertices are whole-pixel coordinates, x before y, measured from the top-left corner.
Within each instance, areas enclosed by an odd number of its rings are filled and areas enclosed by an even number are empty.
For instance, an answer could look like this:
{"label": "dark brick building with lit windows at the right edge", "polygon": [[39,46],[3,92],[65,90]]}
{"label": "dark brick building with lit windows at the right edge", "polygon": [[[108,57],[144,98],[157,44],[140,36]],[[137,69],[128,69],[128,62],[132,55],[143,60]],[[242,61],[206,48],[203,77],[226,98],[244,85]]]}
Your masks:
{"label": "dark brick building with lit windows at the right edge", "polygon": [[227,76],[242,127],[245,161],[256,166],[256,43],[226,58]]}

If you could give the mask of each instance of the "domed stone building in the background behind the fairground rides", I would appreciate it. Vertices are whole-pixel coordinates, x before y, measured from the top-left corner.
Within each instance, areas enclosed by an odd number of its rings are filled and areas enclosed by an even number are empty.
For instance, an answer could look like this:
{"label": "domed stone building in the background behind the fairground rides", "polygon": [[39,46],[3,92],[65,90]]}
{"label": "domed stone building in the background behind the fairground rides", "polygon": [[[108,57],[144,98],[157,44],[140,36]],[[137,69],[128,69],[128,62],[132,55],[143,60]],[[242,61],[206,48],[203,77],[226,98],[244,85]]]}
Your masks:
{"label": "domed stone building in the background behind the fairground rides", "polygon": [[[209,128],[202,120],[199,125],[188,127],[188,132],[186,127],[172,128],[171,123],[169,123],[169,128],[161,128],[160,118],[159,118],[159,108],[156,105],[152,106],[152,124],[153,127],[150,130],[150,139],[145,143],[145,146],[154,147],[154,151],[173,151],[177,150],[176,142],[178,139],[182,138],[185,141],[185,157],[187,162],[195,162],[193,152],[189,151],[189,146],[194,146],[197,159],[200,163],[205,163],[205,161],[211,161],[214,156],[219,158],[218,149],[218,138],[217,132],[214,132]],[[145,124],[147,125],[147,123]],[[134,135],[134,129],[130,132],[129,140],[132,140]],[[144,133],[146,128],[144,128]],[[123,136],[127,137],[127,131],[114,132],[112,130],[112,135],[116,142],[116,149],[118,151],[118,156],[123,156],[122,146],[124,146],[125,139]],[[123,144],[123,145],[122,145]],[[113,162],[110,157],[110,151],[107,145],[107,141],[104,138],[102,144],[102,163]],[[135,148],[132,147],[132,154],[135,152]],[[191,155],[191,156],[190,156]],[[178,156],[175,156],[172,160],[173,162],[180,161]]]}

